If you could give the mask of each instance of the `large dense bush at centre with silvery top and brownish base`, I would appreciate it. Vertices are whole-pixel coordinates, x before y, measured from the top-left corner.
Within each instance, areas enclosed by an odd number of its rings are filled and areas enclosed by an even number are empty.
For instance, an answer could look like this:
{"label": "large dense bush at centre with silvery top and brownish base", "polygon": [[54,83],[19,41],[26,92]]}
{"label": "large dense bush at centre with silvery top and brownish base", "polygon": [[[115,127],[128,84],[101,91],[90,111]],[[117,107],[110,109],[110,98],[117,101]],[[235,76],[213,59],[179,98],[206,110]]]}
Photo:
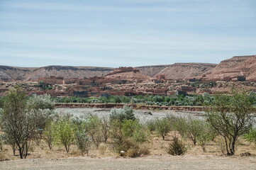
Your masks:
{"label": "large dense bush at centre with silvery top and brownish base", "polygon": [[145,125],[135,119],[133,110],[123,108],[118,113],[111,113],[111,145],[115,152],[125,152],[127,157],[139,157],[142,154],[149,154],[145,145],[150,133]]}

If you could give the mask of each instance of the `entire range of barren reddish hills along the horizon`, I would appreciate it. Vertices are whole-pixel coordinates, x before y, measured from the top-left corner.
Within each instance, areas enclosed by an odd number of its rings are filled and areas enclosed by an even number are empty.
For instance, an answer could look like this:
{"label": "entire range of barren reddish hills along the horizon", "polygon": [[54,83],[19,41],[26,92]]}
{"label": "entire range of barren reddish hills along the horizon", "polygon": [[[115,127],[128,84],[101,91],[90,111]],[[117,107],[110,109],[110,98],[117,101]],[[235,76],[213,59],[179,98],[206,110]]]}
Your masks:
{"label": "entire range of barren reddish hills along the horizon", "polygon": [[[140,72],[119,73],[109,77],[156,77],[165,74],[167,79],[224,79],[224,77],[245,76],[246,79],[256,79],[256,55],[236,56],[223,60],[220,64],[208,63],[175,63],[135,67]],[[84,78],[102,76],[113,72],[111,67],[9,67],[0,66],[1,80],[35,80],[42,77]],[[143,79],[144,79],[143,78]]]}

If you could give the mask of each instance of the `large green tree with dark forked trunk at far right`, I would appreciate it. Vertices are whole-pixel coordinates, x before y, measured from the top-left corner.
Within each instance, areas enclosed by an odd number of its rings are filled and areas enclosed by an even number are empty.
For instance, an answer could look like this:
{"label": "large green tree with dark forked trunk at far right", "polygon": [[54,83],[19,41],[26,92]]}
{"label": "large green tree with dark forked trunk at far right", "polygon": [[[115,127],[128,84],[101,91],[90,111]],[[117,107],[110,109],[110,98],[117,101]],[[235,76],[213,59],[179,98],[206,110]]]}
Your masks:
{"label": "large green tree with dark forked trunk at far right", "polygon": [[252,127],[252,101],[242,92],[233,91],[232,96],[216,96],[207,109],[207,121],[225,140],[226,153],[235,154],[235,144],[240,135]]}

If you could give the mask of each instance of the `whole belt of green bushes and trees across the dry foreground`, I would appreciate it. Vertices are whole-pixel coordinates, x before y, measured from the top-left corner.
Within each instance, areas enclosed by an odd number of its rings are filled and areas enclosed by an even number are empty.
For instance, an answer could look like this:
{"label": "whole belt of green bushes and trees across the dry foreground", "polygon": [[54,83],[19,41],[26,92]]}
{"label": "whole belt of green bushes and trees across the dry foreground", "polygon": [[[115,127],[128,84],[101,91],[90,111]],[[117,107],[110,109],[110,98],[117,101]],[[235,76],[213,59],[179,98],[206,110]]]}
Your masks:
{"label": "whole belt of green bushes and trees across the dry foreground", "polygon": [[[223,154],[232,155],[235,154],[235,146],[239,145],[238,137],[241,135],[245,140],[255,143],[256,133],[251,128],[250,119],[254,101],[252,95],[235,93],[233,96],[216,96],[213,100],[206,94],[205,98],[209,101],[205,102],[208,104],[207,122],[168,115],[143,124],[135,118],[133,109],[129,107],[112,109],[110,118],[99,118],[92,114],[79,117],[55,115],[50,96],[26,98],[21,89],[14,89],[5,98],[1,110],[4,132],[1,133],[0,149],[3,151],[9,145],[15,155],[18,148],[21,158],[26,158],[28,152],[35,152],[39,147],[43,149],[43,145],[49,147],[48,152],[62,150],[67,155],[89,156],[97,150],[101,154],[110,151],[120,154],[122,151],[122,156],[140,157],[159,149],[166,149],[168,154],[182,155],[189,147],[199,146],[207,153],[213,152],[214,145]],[[161,101],[162,97],[156,97],[155,100]],[[11,117],[7,117],[9,113]],[[12,128],[12,125],[15,125],[13,129],[6,129]],[[24,130],[24,127],[27,129]],[[21,132],[27,138],[15,136],[19,137],[16,142],[14,132]],[[174,136],[173,140],[171,136]],[[4,152],[1,154],[5,155]]]}

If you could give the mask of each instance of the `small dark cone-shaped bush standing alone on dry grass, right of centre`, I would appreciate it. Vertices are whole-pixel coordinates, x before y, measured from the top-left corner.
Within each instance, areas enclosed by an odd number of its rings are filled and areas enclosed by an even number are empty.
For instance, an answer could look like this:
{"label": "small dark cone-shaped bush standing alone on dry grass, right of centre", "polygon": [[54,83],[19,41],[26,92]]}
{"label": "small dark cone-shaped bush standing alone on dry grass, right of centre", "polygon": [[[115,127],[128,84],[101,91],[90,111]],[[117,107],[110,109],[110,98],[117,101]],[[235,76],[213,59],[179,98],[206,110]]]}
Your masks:
{"label": "small dark cone-shaped bush standing alone on dry grass, right of centre", "polygon": [[181,140],[179,140],[178,137],[173,137],[173,142],[169,144],[169,147],[166,149],[168,154],[172,155],[182,155],[185,152],[187,152],[187,147],[183,144]]}

